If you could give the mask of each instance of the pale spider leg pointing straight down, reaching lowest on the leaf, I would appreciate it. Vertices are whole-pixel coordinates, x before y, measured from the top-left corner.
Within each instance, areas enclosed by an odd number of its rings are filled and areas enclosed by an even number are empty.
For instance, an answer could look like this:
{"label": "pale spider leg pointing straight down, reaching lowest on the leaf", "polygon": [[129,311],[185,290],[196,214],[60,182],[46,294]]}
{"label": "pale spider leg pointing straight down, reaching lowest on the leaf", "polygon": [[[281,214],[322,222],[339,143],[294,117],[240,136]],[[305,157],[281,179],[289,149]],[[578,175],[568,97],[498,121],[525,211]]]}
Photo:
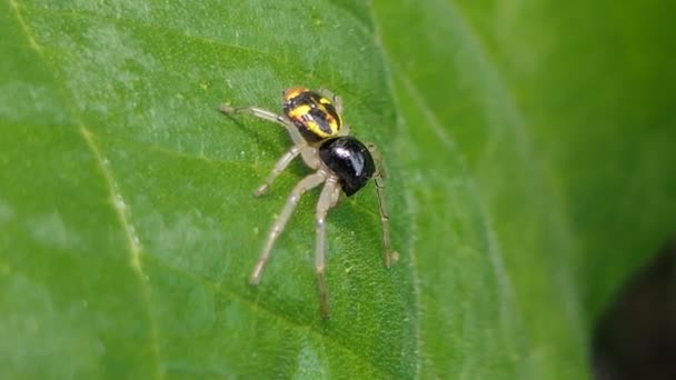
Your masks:
{"label": "pale spider leg pointing straight down, reaching lowest on the leaf", "polygon": [[329,317],[328,292],[326,287],[326,216],[338,200],[338,179],[330,176],[317,202],[317,214],[315,217],[315,226],[317,229],[317,241],[315,247],[315,269],[317,272],[317,282],[319,286],[319,299],[321,302],[321,316],[326,319]]}

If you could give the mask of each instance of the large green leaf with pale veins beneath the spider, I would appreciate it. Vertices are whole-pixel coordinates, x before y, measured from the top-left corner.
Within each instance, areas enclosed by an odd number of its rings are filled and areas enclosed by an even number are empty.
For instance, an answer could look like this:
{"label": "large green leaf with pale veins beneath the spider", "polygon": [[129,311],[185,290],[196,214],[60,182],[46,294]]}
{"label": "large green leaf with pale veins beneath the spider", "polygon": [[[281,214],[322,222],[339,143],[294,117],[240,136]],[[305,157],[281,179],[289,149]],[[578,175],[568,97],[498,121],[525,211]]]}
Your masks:
{"label": "large green leaf with pale veins beneath the spider", "polygon": [[[0,17],[2,378],[580,378],[676,222],[669,10],[573,1],[22,1]],[[676,9],[670,9],[676,10]],[[603,22],[600,22],[603,20]],[[295,162],[221,102],[329,88],[382,152],[248,276]]]}

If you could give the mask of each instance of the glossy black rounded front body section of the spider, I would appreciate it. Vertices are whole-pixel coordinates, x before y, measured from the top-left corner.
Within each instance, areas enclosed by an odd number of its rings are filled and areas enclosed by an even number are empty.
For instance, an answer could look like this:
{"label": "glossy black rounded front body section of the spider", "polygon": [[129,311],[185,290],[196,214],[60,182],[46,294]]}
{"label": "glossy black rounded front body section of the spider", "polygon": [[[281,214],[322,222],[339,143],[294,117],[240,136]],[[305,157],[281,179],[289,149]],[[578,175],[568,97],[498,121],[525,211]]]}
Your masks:
{"label": "glossy black rounded front body section of the spider", "polygon": [[361,141],[350,136],[328,139],[319,147],[319,158],[339,179],[342,191],[359,191],[376,171],[374,158]]}

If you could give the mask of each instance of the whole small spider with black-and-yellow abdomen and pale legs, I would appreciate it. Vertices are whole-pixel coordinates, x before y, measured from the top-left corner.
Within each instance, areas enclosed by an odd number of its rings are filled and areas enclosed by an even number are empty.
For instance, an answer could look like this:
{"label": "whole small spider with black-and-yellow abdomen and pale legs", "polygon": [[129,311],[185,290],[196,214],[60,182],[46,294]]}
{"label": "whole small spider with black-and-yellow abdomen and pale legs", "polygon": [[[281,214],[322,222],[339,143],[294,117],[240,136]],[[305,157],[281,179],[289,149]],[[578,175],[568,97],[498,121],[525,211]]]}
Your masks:
{"label": "whole small spider with black-and-yellow abdomen and pale legs", "polygon": [[233,108],[222,104],[219,110],[226,114],[248,112],[255,117],[276,122],[286,128],[294,146],[277,161],[272,172],[256,189],[255,196],[264,194],[272,181],[298,156],[314,173],[301,179],[289,196],[281,213],[272,224],[264,244],[260,258],[251,273],[250,283],[258,284],[272,246],[300,197],[308,190],[324,183],[315,216],[316,246],[315,269],[319,286],[321,314],[328,318],[326,288],[326,216],[338,203],[340,192],[352,196],[374,180],[378,196],[378,210],[382,223],[382,243],[387,267],[397,260],[398,253],[390,248],[389,216],[385,202],[385,179],[381,158],[372,144],[365,144],[349,136],[349,126],[342,121],[342,101],[327,90],[311,91],[305,87],[294,87],[282,92],[284,116],[258,107]]}

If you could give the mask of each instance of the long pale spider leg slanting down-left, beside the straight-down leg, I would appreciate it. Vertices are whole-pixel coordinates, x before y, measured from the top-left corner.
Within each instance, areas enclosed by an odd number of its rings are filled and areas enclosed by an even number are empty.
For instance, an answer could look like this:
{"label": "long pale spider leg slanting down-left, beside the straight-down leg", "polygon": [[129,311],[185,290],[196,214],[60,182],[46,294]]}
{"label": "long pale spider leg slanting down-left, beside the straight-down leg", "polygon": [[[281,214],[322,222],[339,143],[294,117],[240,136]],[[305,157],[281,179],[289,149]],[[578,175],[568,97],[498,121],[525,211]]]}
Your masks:
{"label": "long pale spider leg slanting down-left, beside the straight-down leg", "polygon": [[264,246],[262,252],[260,253],[260,258],[258,259],[258,262],[256,262],[256,267],[254,267],[254,271],[251,272],[251,278],[250,278],[251,284],[258,284],[258,282],[260,282],[260,277],[262,274],[262,270],[264,270],[266,263],[268,262],[268,259],[270,258],[270,251],[272,250],[272,246],[275,244],[275,241],[277,240],[277,238],[284,230],[285,226],[287,224],[287,221],[291,217],[294,209],[296,209],[296,206],[298,204],[298,200],[300,199],[300,197],[306,191],[319,186],[325,180],[326,180],[326,173],[324,171],[318,171],[316,173],[312,173],[312,174],[301,179],[300,182],[298,182],[298,184],[296,184],[294,190],[291,190],[291,194],[289,196],[287,203],[285,204],[284,209],[281,210],[281,213],[279,214],[277,220],[275,221],[275,224],[272,224],[272,229],[270,230],[270,233],[268,233],[268,240],[266,241],[266,244]]}

